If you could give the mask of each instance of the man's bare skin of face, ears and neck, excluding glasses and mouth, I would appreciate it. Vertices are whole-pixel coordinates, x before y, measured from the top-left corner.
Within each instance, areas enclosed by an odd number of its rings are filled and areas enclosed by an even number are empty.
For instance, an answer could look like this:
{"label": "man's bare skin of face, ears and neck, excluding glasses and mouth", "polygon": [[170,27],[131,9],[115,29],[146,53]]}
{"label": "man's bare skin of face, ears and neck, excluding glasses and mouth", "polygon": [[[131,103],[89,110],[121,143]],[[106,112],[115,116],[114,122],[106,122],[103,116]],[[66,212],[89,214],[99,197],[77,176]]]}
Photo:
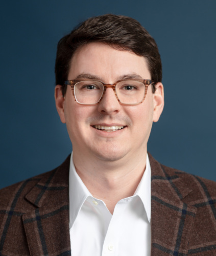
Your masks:
{"label": "man's bare skin of face, ears and neck, excluding glasses and mouth", "polygon": [[[151,79],[144,57],[100,42],[79,48],[71,59],[68,80],[89,76],[107,84],[128,77]],[[69,86],[64,97],[61,86],[55,88],[56,108],[73,144],[77,173],[111,213],[119,200],[134,194],[145,171],[152,123],[158,121],[164,105],[162,83],[156,88],[153,94],[149,86],[146,99],[138,105],[122,105],[111,88],[98,105],[80,105]],[[94,125],[124,129],[106,132]]]}

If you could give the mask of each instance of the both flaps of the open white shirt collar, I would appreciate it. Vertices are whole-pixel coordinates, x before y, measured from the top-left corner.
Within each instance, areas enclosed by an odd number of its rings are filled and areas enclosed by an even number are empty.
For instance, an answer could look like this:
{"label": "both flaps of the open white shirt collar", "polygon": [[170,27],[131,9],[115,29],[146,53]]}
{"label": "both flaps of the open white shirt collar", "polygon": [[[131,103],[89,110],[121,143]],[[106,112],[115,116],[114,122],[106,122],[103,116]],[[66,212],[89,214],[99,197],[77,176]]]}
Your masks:
{"label": "both flaps of the open white shirt collar", "polygon": [[[141,181],[134,193],[139,196],[147,213],[147,218],[151,222],[151,166],[147,154],[146,170]],[[92,197],[91,193],[76,172],[73,152],[70,156],[69,168],[69,227],[71,228],[79,214],[79,211],[88,197]]]}

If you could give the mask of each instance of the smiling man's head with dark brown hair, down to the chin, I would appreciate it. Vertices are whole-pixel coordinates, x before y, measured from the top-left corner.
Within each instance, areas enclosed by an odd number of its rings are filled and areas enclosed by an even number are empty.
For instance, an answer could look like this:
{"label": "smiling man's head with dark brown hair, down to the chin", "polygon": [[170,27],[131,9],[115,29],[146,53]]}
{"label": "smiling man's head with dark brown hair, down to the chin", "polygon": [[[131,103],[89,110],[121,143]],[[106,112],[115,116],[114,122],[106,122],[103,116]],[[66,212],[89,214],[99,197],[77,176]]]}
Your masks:
{"label": "smiling man's head with dark brown hair, down to the chin", "polygon": [[[73,86],[72,92],[69,85],[62,92],[66,80],[77,83],[77,79],[82,80],[82,86],[76,84],[76,90],[84,95],[84,100],[80,100],[84,104],[75,100]],[[153,90],[136,86],[134,81],[138,79],[154,79]],[[123,84],[114,89],[112,84],[119,80],[124,80]],[[159,119],[163,110],[160,80],[161,61],[156,43],[134,19],[116,15],[95,17],[63,37],[56,60],[55,98],[73,144],[74,158],[80,158],[82,164],[95,158],[126,163],[145,155],[152,122]],[[99,84],[103,87],[103,83],[109,87],[101,100],[89,104],[88,96],[98,94]],[[129,104],[123,104],[119,96],[117,99],[114,90],[119,90],[118,95]],[[146,92],[146,98],[136,103],[139,92]]]}

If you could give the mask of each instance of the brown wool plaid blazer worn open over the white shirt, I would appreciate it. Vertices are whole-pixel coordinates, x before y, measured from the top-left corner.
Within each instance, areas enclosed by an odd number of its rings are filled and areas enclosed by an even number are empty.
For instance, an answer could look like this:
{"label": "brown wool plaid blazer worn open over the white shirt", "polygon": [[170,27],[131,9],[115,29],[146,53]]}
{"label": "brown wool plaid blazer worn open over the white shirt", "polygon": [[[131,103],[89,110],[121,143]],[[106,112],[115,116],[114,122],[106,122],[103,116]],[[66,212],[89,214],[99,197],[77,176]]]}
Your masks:
{"label": "brown wool plaid blazer worn open over the white shirt", "polygon": [[[151,256],[215,256],[216,183],[165,167],[150,154],[149,158]],[[73,255],[68,217],[69,161],[67,157],[51,172],[0,190],[1,256]]]}

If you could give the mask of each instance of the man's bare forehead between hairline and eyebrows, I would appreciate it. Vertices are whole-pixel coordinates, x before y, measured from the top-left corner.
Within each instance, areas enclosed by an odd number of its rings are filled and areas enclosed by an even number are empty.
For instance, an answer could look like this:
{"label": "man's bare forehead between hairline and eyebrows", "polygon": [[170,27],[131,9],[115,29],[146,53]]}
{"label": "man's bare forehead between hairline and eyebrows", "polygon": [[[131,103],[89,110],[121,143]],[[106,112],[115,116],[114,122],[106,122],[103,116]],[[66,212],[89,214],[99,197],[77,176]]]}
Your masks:
{"label": "man's bare forehead between hairline and eyebrows", "polygon": [[68,79],[76,79],[82,74],[97,76],[109,82],[127,74],[151,79],[145,57],[130,51],[116,50],[101,42],[91,42],[80,47],[72,57]]}

